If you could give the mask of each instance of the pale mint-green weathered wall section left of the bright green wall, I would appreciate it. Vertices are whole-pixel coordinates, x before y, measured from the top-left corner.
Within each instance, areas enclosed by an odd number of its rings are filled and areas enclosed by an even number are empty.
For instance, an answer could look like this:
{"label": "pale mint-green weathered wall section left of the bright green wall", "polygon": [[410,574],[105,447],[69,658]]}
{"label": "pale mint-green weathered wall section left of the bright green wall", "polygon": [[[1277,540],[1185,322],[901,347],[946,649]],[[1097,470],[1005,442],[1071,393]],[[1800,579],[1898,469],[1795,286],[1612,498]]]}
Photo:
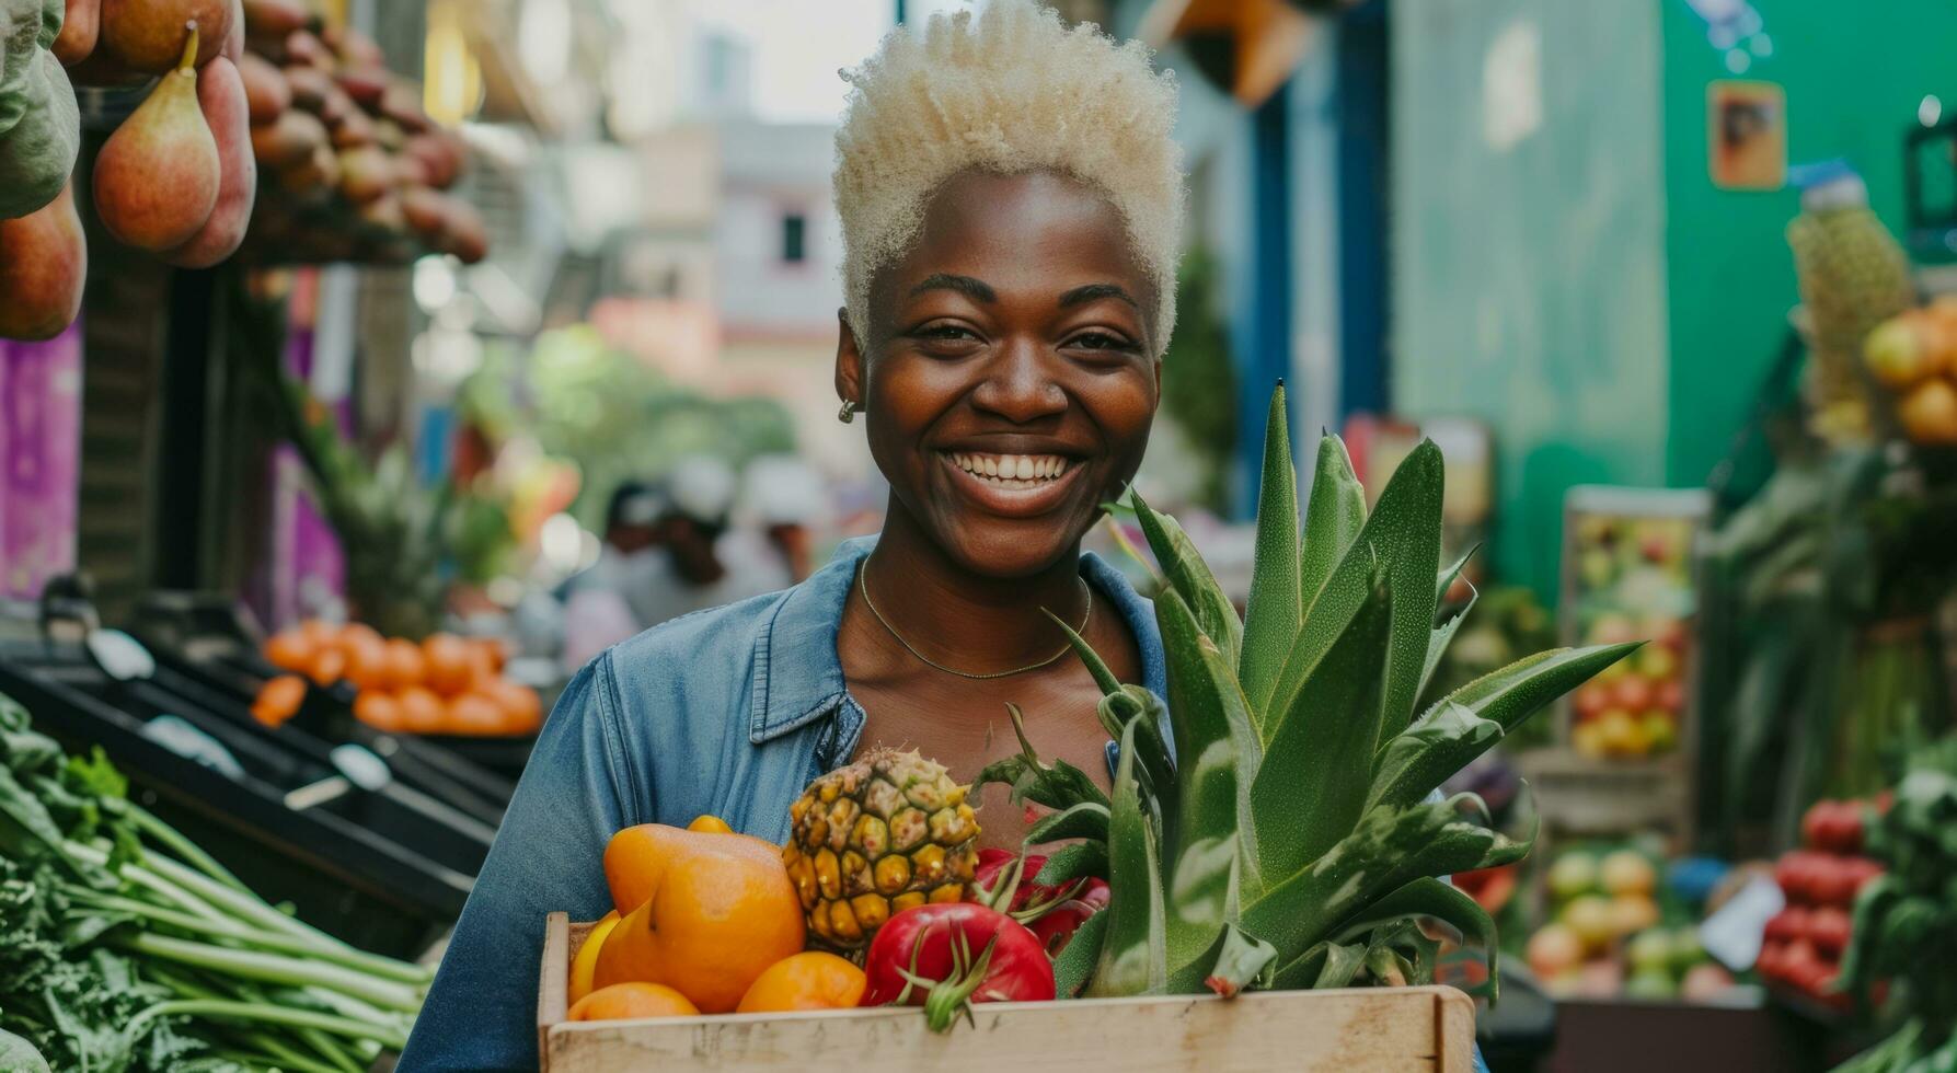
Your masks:
{"label": "pale mint-green weathered wall section left of the bright green wall", "polygon": [[[1391,399],[1493,425],[1491,566],[1548,595],[1564,490],[1665,478],[1660,12],[1409,0],[1391,18]],[[1540,125],[1503,147],[1483,69],[1530,35]]]}

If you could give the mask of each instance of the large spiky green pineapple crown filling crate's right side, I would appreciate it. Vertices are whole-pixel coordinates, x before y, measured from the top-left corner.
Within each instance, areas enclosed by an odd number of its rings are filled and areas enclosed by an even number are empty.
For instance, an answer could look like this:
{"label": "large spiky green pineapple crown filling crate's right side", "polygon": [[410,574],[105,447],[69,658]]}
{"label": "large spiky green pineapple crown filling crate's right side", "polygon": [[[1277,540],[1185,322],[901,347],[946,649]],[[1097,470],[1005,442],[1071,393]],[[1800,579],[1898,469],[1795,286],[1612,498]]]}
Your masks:
{"label": "large spiky green pineapple crown filling crate's right side", "polygon": [[1241,621],[1174,519],[1135,497],[1164,576],[1166,707],[1069,634],[1119,740],[1114,793],[1043,764],[1016,709],[1022,754],[975,783],[1055,809],[1027,842],[1074,844],[1037,883],[1094,875],[1112,889],[1055,961],[1061,995],[1429,983],[1434,942],[1415,918],[1487,950],[1493,981],[1493,922],[1436,877],[1521,860],[1530,842],[1489,830],[1485,811],[1464,809],[1472,795],[1429,795],[1636,644],[1540,652],[1417,711],[1460,625],[1436,615],[1464,566],[1440,564],[1440,503],[1429,441],[1368,517],[1344,444],[1327,435],[1299,533],[1280,386]]}

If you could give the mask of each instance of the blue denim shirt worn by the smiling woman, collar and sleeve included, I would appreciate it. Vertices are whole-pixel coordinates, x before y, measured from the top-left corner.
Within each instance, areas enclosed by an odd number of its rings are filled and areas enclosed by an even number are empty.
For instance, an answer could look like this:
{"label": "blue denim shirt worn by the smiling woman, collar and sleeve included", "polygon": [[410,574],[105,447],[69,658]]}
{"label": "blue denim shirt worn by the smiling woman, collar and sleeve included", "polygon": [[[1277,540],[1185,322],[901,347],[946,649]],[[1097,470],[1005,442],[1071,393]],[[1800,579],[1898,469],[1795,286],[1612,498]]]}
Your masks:
{"label": "blue denim shirt worn by the smiling woman, collar and sleeve included", "polygon": [[[789,805],[863,734],[836,632],[871,546],[851,540],[793,589],[654,627],[577,672],[462,909],[403,1073],[536,1069],[544,914],[611,910],[601,862],[618,828],[714,815],[789,838]],[[1151,603],[1094,554],[1080,574],[1135,636],[1141,685],[1166,695]]]}

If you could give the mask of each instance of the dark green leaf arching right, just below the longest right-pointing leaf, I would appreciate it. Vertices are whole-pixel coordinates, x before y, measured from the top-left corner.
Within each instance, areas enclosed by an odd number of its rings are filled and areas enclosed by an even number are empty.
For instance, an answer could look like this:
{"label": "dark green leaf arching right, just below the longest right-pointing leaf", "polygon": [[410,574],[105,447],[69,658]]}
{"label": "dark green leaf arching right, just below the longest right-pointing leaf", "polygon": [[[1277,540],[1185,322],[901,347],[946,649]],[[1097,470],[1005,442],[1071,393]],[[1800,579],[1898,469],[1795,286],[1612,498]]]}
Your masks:
{"label": "dark green leaf arching right, just below the longest right-pointing leaf", "polygon": [[1513,842],[1442,801],[1370,809],[1323,858],[1247,905],[1243,928],[1297,957],[1356,918],[1372,903],[1421,875],[1448,875],[1521,860],[1528,842]]}

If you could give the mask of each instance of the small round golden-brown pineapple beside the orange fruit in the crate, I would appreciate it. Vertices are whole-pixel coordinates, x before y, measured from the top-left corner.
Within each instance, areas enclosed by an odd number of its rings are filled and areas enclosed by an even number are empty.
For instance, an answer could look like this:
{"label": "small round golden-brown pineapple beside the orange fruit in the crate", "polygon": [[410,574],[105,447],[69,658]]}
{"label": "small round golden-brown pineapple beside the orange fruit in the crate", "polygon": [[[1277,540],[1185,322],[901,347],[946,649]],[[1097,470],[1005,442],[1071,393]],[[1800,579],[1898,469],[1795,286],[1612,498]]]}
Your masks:
{"label": "small round golden-brown pineapple beside the orange fruit in the crate", "polygon": [[892,748],[808,783],[781,852],[808,930],[855,952],[892,912],[965,901],[978,867],[969,793],[935,760]]}

